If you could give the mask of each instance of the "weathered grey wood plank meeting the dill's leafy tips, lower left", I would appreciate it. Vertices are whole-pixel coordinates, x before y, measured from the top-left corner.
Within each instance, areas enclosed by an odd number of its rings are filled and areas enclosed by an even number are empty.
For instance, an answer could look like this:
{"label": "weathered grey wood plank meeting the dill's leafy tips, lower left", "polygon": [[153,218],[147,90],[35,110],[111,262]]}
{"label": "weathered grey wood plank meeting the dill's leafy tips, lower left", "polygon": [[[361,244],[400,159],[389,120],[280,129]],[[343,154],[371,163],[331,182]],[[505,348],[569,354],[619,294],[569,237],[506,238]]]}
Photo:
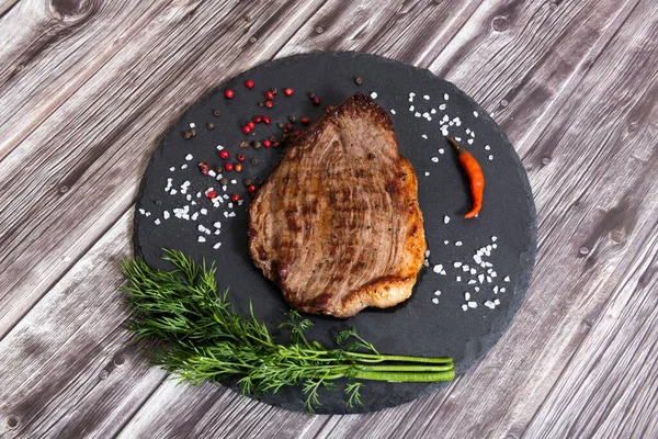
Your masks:
{"label": "weathered grey wood plank meeting the dill's leafy tips, lower left", "polygon": [[121,328],[128,248],[115,243],[131,222],[122,216],[0,341],[1,437],[111,437],[163,379]]}

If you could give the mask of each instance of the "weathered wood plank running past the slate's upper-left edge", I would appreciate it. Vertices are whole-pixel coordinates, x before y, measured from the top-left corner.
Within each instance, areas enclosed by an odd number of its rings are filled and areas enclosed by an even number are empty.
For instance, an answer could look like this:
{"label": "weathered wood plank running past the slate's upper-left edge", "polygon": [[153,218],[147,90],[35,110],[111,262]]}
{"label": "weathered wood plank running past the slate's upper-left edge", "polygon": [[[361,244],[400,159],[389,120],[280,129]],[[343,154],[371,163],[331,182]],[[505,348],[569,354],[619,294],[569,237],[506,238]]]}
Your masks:
{"label": "weathered wood plank running past the slate's upper-left edge", "polygon": [[[77,260],[129,207],[170,115],[272,57],[319,7],[164,10],[0,162],[0,335],[70,267],[65,258]],[[272,19],[247,22],[247,12]],[[27,162],[47,166],[25,179]]]}

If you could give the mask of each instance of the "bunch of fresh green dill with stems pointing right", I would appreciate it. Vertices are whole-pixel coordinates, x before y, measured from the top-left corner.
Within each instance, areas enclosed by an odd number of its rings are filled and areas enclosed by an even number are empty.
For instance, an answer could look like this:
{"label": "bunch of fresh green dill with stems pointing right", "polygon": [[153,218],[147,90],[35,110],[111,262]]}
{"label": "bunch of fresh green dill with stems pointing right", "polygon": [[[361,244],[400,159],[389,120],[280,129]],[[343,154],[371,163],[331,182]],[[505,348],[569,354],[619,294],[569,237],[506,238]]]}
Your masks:
{"label": "bunch of fresh green dill with stems pointing right", "polygon": [[328,349],[304,333],[313,323],[296,311],[286,313],[280,328],[290,330],[290,344],[272,338],[253,315],[235,312],[227,292],[217,294],[215,268],[195,263],[183,254],[166,250],[172,271],[154,270],[141,259],[123,262],[129,284],[124,288],[133,315],[128,329],[138,338],[161,341],[151,352],[154,364],[181,380],[200,384],[239,378],[242,393],[276,393],[302,386],[309,412],[320,405],[318,390],[334,389],[347,378],[347,404],[361,404],[363,380],[439,382],[454,379],[450,358],[381,354],[351,328],[337,337],[344,349]]}

